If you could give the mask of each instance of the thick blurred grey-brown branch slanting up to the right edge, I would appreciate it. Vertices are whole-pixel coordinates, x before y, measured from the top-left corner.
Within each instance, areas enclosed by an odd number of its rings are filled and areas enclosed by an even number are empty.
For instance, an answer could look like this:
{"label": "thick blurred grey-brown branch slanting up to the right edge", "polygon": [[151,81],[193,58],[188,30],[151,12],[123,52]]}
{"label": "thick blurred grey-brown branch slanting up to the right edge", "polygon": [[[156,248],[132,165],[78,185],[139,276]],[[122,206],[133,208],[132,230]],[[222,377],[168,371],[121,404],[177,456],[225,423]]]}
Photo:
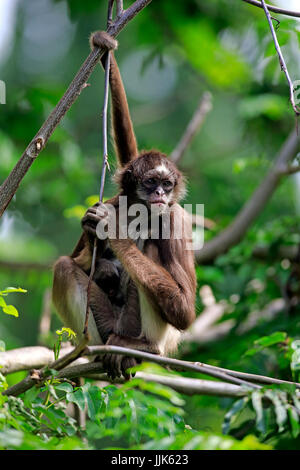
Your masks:
{"label": "thick blurred grey-brown branch slanting up to the right edge", "polygon": [[260,215],[275,189],[281,182],[287,164],[294,158],[299,148],[299,136],[293,131],[280,149],[275,163],[266,178],[246,202],[234,221],[211,241],[204,244],[201,250],[195,251],[195,259],[199,264],[212,262],[238,244],[246,235],[249,227]]}

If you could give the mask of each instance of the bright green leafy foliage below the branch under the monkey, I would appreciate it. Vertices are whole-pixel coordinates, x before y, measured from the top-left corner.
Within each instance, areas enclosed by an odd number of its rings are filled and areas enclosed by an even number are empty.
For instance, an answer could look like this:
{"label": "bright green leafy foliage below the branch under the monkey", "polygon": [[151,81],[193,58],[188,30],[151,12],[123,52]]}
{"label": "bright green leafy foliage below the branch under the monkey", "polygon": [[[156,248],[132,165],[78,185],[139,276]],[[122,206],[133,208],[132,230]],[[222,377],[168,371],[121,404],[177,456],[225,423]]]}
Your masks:
{"label": "bright green leafy foliage below the branch under the monkey", "polygon": [[[5,390],[5,378],[0,378]],[[45,392],[50,402],[43,401]],[[238,442],[192,430],[184,422],[180,395],[141,379],[104,388],[53,379],[41,393],[30,389],[22,397],[0,399],[0,449],[270,449],[254,436]],[[69,404],[87,410],[86,430],[66,414]]]}

